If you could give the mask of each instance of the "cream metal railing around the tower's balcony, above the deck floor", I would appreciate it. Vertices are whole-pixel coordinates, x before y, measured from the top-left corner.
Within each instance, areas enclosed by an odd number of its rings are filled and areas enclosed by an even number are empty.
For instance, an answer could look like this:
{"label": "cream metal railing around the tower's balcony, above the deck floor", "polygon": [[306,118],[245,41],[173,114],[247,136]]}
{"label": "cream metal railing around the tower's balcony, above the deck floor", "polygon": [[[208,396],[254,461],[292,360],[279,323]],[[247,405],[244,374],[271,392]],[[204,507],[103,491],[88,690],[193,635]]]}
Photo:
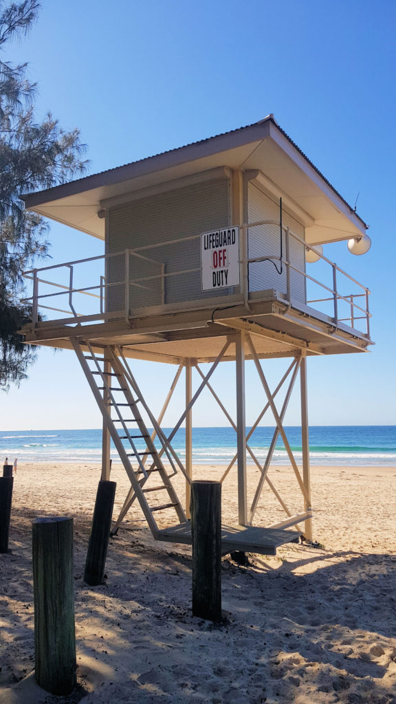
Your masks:
{"label": "cream metal railing around the tower's balcony, above the deck floor", "polygon": [[[277,227],[283,233],[285,243],[285,253],[279,249],[278,253],[270,256],[256,256],[249,258],[249,230],[262,225]],[[47,311],[52,313],[63,313],[67,318],[54,318],[45,320],[42,325],[54,325],[56,320],[58,325],[75,323],[83,324],[94,321],[110,321],[114,318],[129,318],[131,309],[150,308],[152,306],[168,307],[167,293],[169,289],[182,281],[182,277],[195,275],[200,277],[200,265],[190,268],[178,268],[177,254],[174,255],[174,245],[197,246],[195,259],[192,263],[199,262],[199,240],[200,235],[192,235],[182,240],[168,240],[162,243],[148,244],[134,249],[126,249],[101,256],[79,259],[67,263],[50,265],[39,269],[32,269],[24,273],[26,279],[32,282],[32,296],[25,298],[25,303],[32,305],[32,322],[37,325]],[[293,290],[295,275],[303,277],[305,289],[310,289],[309,293],[319,289],[320,294],[314,297],[304,296],[303,303],[309,310],[317,311],[326,315],[333,325],[337,327],[340,323],[352,329],[363,332],[370,337],[369,321],[369,294],[370,291],[356,279],[349,276],[330,261],[326,256],[321,255],[321,267],[319,270],[323,274],[324,280],[319,280],[311,275],[312,267],[318,267],[319,263],[305,265],[301,268],[296,265],[290,257],[292,241],[297,246],[305,249],[313,249],[314,246],[307,244],[304,239],[292,232],[289,227],[285,227],[276,220],[261,220],[244,224],[240,227],[240,287],[233,289],[233,302],[245,303],[249,306],[252,298],[252,291],[249,288],[249,270],[252,265],[271,261],[278,263],[278,273],[285,272],[284,277],[280,277],[282,282],[277,290],[283,301],[290,307],[298,307],[298,301]],[[196,241],[196,242],[195,242]],[[265,242],[268,247],[268,242]],[[279,237],[280,242],[280,237]],[[169,265],[166,258],[166,247],[173,246],[173,266]],[[179,247],[177,248],[179,249]],[[304,251],[304,249],[302,249]],[[151,256],[147,256],[149,253]],[[154,258],[157,256],[158,258]],[[180,255],[180,262],[185,261]],[[309,269],[307,270],[307,267]],[[324,269],[323,269],[324,267]],[[90,269],[90,271],[89,271]],[[327,270],[327,272],[326,272]],[[49,279],[51,272],[51,280]],[[89,278],[90,277],[90,278]],[[179,277],[179,278],[178,278]],[[87,280],[89,279],[89,281]],[[326,282],[327,279],[327,282]],[[347,282],[348,286],[355,287],[354,291],[347,294],[340,292],[341,282]],[[81,284],[81,285],[80,285]],[[87,285],[88,284],[88,285]],[[265,282],[265,272],[263,279],[263,290],[268,289]],[[323,296],[324,291],[324,296]],[[224,299],[230,298],[230,292],[219,291]],[[308,291],[307,291],[308,294]],[[183,303],[189,303],[190,308],[202,308],[204,296],[199,287],[194,291],[185,289],[185,299]],[[66,299],[66,305],[63,303]],[[257,292],[254,296],[257,300]],[[59,303],[58,303],[59,301]],[[82,310],[80,310],[80,308]],[[175,303],[173,303],[173,309]],[[42,311],[45,311],[43,314]],[[360,322],[363,323],[360,325]],[[363,327],[364,329],[361,329]]]}

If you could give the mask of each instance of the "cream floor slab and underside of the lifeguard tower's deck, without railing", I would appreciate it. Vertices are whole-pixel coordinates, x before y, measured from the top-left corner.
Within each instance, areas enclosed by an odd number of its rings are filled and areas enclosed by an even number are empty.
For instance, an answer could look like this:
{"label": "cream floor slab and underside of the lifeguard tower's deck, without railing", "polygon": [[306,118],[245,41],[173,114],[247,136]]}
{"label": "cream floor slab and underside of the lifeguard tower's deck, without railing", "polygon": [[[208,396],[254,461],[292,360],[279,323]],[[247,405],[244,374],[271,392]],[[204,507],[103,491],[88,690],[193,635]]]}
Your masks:
{"label": "cream floor slab and underside of the lifeguard tower's deck, without railing", "polygon": [[[249,303],[220,310],[192,310],[161,315],[147,315],[129,320],[96,322],[90,325],[61,325],[44,321],[36,327],[25,326],[23,334],[30,344],[71,348],[70,338],[82,344],[89,340],[99,350],[115,344],[123,346],[129,358],[180,364],[191,358],[198,362],[216,359],[225,340],[236,331],[254,335],[259,358],[328,355],[366,351],[371,341],[361,332],[334,325],[330,318],[304,310],[289,308],[279,301]],[[245,356],[250,358],[249,349]],[[233,346],[224,360],[235,360]]]}

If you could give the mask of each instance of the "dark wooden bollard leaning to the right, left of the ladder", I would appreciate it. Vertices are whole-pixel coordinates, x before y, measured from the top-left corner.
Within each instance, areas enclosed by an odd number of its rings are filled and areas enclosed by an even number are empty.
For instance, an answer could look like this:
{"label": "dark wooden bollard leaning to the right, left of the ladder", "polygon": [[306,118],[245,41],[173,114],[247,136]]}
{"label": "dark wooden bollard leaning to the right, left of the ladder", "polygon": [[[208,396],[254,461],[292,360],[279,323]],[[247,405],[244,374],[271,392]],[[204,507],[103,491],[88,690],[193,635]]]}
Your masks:
{"label": "dark wooden bollard leaning to the right, left of the ladder", "polygon": [[116,482],[106,479],[98,484],[84,572],[84,582],[89,586],[101,584],[104,577],[116,486]]}

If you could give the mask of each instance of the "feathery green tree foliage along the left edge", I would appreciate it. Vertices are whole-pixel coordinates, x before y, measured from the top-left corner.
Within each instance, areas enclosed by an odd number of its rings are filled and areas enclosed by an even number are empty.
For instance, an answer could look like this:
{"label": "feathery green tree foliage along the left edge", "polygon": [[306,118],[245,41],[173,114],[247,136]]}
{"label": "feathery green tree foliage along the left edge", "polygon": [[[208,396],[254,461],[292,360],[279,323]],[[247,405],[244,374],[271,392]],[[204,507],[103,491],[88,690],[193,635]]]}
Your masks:
{"label": "feathery green tree foliage along the left edge", "polygon": [[39,6],[37,0],[0,0],[0,388],[6,390],[25,379],[36,358],[16,332],[31,315],[18,303],[22,272],[48,256],[47,222],[27,213],[20,195],[56,186],[87,166],[78,130],[66,132],[51,113],[35,119],[36,86],[27,80],[27,64],[3,60],[7,42],[30,30]]}

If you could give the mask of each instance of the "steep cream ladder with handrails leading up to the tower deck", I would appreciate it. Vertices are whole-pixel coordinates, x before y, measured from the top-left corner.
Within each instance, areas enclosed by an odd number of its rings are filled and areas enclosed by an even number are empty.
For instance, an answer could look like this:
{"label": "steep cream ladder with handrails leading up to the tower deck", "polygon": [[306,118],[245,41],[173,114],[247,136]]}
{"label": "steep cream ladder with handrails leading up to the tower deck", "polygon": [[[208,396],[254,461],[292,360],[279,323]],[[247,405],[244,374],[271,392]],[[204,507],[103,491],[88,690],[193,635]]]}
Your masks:
{"label": "steep cream ladder with handrails leading up to the tower deck", "polygon": [[[83,351],[82,345],[87,348],[88,353]],[[172,451],[171,446],[168,445],[161,428],[156,424],[122,352],[117,353],[115,346],[108,345],[103,348],[101,355],[98,355],[89,342],[85,341],[80,344],[76,339],[73,340],[73,347],[130,479],[130,491],[125,498],[123,509],[113,532],[118,530],[130,505],[137,498],[151,533],[157,540],[159,527],[154,518],[154,513],[157,511],[173,510],[179,522],[187,522],[187,517],[171,484],[170,475],[163,466],[161,456],[166,453],[173,474],[178,471],[175,464],[178,464],[182,471],[184,467]],[[111,372],[105,372],[105,361],[109,362]],[[139,406],[144,408],[156,431],[161,446],[159,450],[154,445],[154,439],[149,434]],[[131,424],[133,424],[132,428]],[[139,449],[139,441],[144,441],[143,451]],[[158,504],[160,493],[166,494],[166,501]]]}

